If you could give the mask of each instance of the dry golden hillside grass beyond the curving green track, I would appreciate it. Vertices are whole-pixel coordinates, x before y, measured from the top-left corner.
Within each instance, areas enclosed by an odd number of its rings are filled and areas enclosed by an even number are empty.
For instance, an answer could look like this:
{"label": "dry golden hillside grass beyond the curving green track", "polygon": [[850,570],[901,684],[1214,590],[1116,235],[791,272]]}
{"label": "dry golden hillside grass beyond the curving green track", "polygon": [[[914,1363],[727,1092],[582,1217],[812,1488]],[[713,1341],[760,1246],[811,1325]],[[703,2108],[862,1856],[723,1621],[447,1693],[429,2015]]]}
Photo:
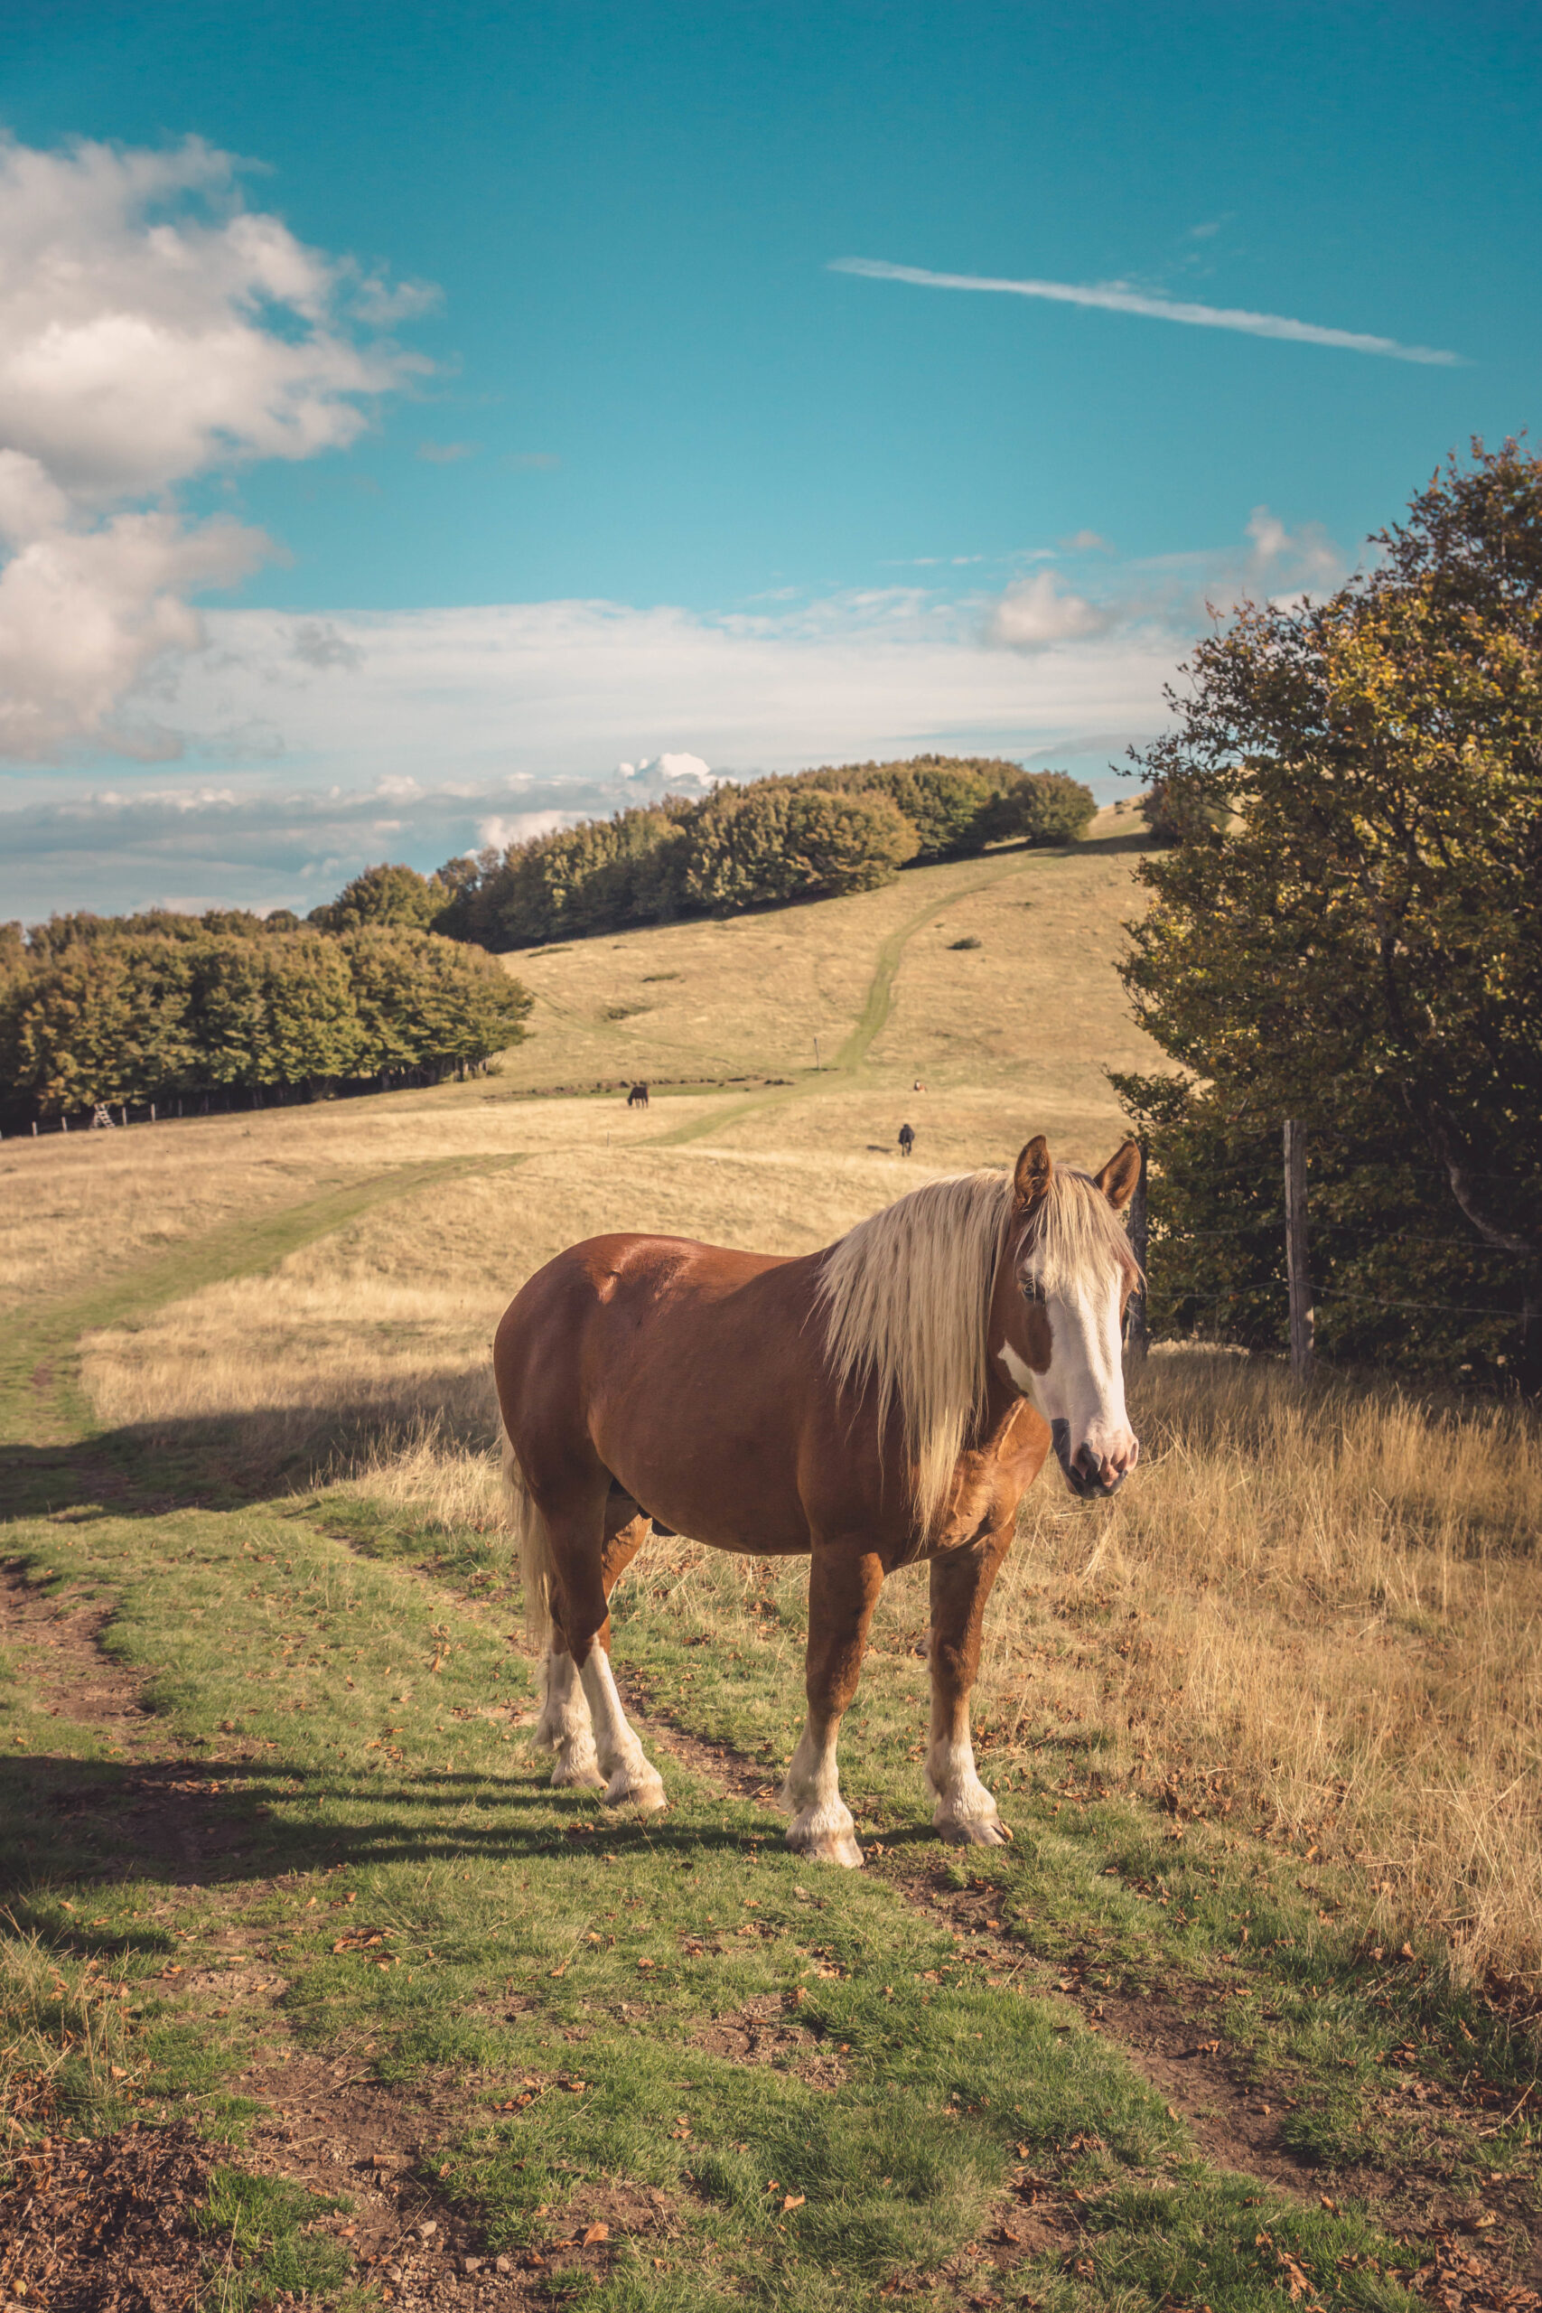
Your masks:
{"label": "dry golden hillside grass beyond the curving green track", "polygon": [[[909,1117],[939,1170],[1006,1159],[1024,1129],[1100,1159],[1121,1131],[1103,1069],[1161,1064],[1112,971],[1119,918],[1140,897],[1126,830],[1105,812],[1100,840],[1073,853],[999,853],[821,907],[511,955],[536,992],[536,1034],[469,1085],[7,1140],[0,1309],[358,1175],[569,1140],[592,1147],[596,1131],[599,1145],[610,1136],[613,1150],[629,1150],[705,1122],[728,1147],[844,1159],[869,1145],[892,1152]],[[885,941],[911,923],[888,1025],[860,1066],[835,1071]],[[959,937],[983,946],[952,953]],[[608,1018],[627,1006],[647,1011]],[[728,1092],[627,1113],[608,1101],[603,1122],[587,1103],[522,1096],[636,1076],[793,1082],[770,1103]],[[920,1096],[915,1076],[927,1082]]]}

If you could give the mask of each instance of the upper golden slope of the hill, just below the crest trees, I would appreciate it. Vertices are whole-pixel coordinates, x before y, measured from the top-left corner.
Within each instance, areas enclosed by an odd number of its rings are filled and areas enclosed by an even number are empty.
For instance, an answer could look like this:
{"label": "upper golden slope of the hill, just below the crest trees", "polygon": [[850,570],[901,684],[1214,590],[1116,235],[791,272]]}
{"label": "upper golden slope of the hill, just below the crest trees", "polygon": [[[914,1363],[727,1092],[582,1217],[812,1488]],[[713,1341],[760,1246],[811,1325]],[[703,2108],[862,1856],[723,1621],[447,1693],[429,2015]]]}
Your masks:
{"label": "upper golden slope of the hill, just below the crest trees", "polygon": [[1006,851],[846,900],[511,955],[536,1011],[504,1082],[781,1076],[795,1103],[770,1101],[774,1126],[756,1103],[712,1138],[890,1147],[909,1117],[920,1152],[950,1166],[1022,1145],[1031,1117],[1068,1154],[1107,1154],[1119,1113],[1103,1071],[1161,1064],[1112,969],[1140,904],[1142,837],[1128,826],[1105,812],[1073,851]]}

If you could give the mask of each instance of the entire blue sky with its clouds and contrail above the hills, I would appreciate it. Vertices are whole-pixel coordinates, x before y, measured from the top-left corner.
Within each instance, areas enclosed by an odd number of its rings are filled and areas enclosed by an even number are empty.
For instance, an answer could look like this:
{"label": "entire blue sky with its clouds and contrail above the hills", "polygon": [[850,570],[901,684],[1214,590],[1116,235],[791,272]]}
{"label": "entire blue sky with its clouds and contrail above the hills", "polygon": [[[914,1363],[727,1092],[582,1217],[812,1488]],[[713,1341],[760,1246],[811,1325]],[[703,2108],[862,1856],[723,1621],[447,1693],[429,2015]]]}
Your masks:
{"label": "entire blue sky with its clouds and contrail above the hills", "polygon": [[1112,791],[1207,594],[1332,585],[1537,414],[1517,7],[76,0],[7,49],[5,914],[932,745]]}

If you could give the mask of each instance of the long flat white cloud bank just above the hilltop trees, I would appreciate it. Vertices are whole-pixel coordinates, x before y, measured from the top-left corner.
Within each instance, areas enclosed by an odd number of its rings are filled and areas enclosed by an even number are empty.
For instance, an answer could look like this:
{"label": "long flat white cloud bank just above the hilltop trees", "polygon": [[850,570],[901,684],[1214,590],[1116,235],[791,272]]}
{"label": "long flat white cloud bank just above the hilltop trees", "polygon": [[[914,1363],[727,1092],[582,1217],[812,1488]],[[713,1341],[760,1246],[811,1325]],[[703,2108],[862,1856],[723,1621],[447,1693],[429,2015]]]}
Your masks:
{"label": "long flat white cloud bank just above the hilltop trees", "polygon": [[[1117,793],[1110,766],[1163,726],[1207,601],[1341,576],[1318,530],[1260,507],[1232,546],[1112,564],[1098,601],[1040,569],[994,601],[881,588],[724,618],[610,601],[335,611],[305,622],[310,662],[291,615],[210,611],[208,648],[157,701],[201,775],[143,791],[0,775],[0,916],[164,891],[307,907],[381,856],[384,819],[393,858],[428,870],[714,777],[925,749],[1070,768]],[[985,648],[992,625],[1010,648]],[[670,745],[638,759],[638,733]]]}

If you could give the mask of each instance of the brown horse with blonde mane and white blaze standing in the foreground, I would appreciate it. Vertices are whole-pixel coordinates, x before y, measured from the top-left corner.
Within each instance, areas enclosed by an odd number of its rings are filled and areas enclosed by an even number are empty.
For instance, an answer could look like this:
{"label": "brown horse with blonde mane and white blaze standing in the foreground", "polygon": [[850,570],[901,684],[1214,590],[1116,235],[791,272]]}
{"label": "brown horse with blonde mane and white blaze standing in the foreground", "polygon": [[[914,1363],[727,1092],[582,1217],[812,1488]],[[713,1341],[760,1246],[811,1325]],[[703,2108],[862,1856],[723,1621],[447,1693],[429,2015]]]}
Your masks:
{"label": "brown horse with blonde mane and white blaze standing in the foreground", "polygon": [[1140,1453],[1117,1212],[1133,1140],[1094,1177],[1029,1140],[1015,1173],[902,1196],[821,1254],[590,1237],[548,1261],[492,1344],[525,1605],[546,1651],[553,1783],[663,1806],[610,1672],[610,1589],[650,1527],[809,1557],[809,1716],[781,1790],[788,1846],[860,1864],[835,1744],[883,1577],[932,1568],[932,1746],[943,1837],[1008,1832],[976,1774],[969,1691],[1017,1503],[1054,1446],[1073,1494]]}

